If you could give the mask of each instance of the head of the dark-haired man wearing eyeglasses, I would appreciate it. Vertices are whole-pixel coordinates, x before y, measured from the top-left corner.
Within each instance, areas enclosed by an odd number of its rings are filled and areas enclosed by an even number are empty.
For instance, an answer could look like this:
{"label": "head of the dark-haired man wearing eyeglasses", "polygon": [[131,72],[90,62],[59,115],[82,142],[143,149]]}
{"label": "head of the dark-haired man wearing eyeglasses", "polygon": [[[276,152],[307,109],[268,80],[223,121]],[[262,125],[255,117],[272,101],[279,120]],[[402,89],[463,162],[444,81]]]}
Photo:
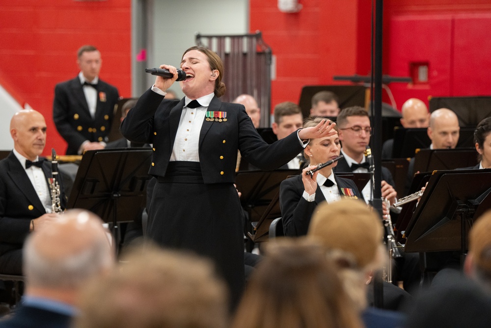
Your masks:
{"label": "head of the dark-haired man wearing eyeglasses", "polygon": [[360,161],[372,134],[368,112],[359,106],[344,108],[339,113],[336,124],[343,151]]}

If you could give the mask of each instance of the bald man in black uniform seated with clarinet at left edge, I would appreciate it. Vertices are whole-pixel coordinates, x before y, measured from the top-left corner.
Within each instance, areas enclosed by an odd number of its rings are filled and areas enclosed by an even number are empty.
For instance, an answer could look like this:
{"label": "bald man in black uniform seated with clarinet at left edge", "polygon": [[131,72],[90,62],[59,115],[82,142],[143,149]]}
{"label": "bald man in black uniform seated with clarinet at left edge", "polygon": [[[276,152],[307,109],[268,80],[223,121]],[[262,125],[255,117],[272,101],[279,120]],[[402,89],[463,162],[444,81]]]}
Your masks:
{"label": "bald man in black uniform seated with clarinet at left edge", "polygon": [[[59,220],[52,213],[52,163],[39,157],[46,144],[46,122],[35,110],[17,112],[10,121],[14,149],[0,161],[0,273],[22,274],[22,247],[29,233]],[[65,209],[59,180],[61,209]]]}

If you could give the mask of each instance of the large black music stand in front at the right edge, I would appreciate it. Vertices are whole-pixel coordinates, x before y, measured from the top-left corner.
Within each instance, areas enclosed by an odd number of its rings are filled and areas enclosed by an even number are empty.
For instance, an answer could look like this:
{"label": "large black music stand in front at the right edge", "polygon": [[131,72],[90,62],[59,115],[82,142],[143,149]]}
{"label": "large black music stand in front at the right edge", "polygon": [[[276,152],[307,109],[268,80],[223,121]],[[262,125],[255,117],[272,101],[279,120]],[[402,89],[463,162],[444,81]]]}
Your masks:
{"label": "large black music stand in front at the right edge", "polygon": [[464,255],[473,221],[491,208],[489,181],[491,169],[434,172],[406,229],[405,251]]}

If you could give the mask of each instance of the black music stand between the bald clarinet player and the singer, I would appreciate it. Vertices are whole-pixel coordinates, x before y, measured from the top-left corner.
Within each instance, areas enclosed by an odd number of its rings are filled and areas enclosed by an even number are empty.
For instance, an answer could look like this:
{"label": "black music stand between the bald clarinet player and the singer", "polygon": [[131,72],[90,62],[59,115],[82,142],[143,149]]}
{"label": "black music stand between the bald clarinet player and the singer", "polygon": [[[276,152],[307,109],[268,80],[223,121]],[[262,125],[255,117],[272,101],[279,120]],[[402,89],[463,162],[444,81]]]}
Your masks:
{"label": "black music stand between the bald clarinet player and the singer", "polygon": [[152,149],[115,148],[84,153],[68,209],[88,209],[112,223],[116,251],[118,222],[133,221],[146,204]]}

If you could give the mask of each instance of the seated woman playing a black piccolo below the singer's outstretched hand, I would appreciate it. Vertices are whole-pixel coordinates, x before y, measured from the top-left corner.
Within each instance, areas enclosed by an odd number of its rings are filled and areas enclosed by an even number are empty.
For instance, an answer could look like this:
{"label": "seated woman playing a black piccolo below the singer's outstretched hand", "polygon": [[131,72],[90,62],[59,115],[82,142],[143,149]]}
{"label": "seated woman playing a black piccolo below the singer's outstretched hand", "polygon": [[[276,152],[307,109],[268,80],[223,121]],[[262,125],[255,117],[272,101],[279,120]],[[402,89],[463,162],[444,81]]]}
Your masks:
{"label": "seated woman playing a black piccolo below the singer's outstretched hand", "polygon": [[[316,126],[322,118],[308,118],[304,127]],[[337,131],[337,126],[334,126]],[[310,217],[317,204],[327,201],[332,203],[341,197],[362,199],[355,182],[350,179],[337,178],[332,168],[337,162],[314,172],[318,164],[335,159],[339,156],[341,146],[338,134],[324,138],[311,139],[305,147],[305,158],[309,166],[303,169],[300,176],[289,178],[280,185],[280,209],[283,230],[286,236],[296,237],[307,234]]]}

